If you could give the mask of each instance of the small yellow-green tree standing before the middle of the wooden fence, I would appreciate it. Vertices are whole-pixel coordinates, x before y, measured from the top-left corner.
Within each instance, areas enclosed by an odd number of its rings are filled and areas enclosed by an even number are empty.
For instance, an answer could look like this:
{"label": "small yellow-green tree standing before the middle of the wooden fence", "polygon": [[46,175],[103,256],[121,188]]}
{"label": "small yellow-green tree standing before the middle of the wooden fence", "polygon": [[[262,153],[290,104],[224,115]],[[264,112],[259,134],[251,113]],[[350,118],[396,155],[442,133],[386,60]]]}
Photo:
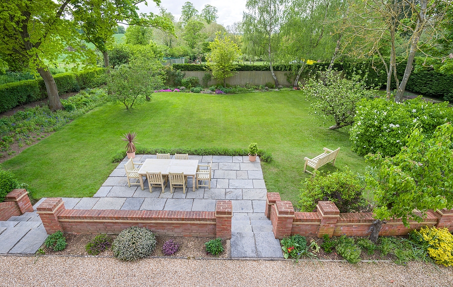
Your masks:
{"label": "small yellow-green tree standing before the middle of the wooden fence", "polygon": [[219,81],[223,81],[223,87],[226,87],[225,79],[234,75],[232,70],[236,67],[233,64],[241,55],[241,49],[230,39],[230,36],[220,37],[217,33],[213,42],[209,43],[211,53],[208,56],[207,65],[212,70],[212,76]]}

